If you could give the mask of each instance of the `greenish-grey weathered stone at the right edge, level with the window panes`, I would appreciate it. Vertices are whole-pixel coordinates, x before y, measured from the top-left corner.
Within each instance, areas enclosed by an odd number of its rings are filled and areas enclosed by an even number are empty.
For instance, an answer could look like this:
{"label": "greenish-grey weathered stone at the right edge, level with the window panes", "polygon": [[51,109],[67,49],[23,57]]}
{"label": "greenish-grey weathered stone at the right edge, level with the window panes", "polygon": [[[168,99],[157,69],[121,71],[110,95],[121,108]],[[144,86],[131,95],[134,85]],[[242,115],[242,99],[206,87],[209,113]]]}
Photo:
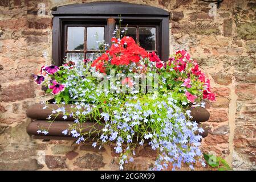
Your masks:
{"label": "greenish-grey weathered stone at the right edge, level with the window panes", "polygon": [[255,40],[256,39],[256,23],[238,23],[237,35],[241,39]]}

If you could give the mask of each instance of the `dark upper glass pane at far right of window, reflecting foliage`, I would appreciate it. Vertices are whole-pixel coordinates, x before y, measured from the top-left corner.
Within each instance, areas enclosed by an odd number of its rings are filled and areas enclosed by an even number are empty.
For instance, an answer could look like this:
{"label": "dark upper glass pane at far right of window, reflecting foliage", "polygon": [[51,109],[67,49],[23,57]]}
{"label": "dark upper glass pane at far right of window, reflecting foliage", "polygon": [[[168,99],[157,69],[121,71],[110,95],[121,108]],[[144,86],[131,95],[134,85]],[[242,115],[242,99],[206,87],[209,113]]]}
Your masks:
{"label": "dark upper glass pane at far right of window, reflecting foliage", "polygon": [[147,51],[156,50],[156,28],[153,27],[141,27],[139,28],[140,46]]}

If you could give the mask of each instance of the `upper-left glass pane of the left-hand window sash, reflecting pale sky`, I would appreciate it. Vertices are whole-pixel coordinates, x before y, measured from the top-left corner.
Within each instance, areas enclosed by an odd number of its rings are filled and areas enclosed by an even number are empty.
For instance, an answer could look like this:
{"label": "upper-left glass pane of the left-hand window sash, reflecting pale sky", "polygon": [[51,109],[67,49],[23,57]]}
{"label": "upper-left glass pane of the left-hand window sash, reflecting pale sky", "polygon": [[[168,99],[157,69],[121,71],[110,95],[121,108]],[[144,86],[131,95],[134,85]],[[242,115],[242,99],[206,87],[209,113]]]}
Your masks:
{"label": "upper-left glass pane of the left-hand window sash, reflecting pale sky", "polygon": [[68,27],[67,49],[84,49],[84,27]]}

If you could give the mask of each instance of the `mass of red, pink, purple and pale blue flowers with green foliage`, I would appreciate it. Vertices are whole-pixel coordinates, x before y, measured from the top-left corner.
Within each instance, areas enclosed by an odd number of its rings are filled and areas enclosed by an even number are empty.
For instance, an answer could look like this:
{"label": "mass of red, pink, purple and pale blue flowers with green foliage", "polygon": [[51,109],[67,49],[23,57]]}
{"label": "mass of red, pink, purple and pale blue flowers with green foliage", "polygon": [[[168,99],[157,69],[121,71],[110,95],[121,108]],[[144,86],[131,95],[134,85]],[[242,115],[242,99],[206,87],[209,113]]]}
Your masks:
{"label": "mass of red, pink, purple and pale blue flowers with green foliage", "polygon": [[[116,30],[120,32],[120,30]],[[120,33],[118,34],[120,35]],[[52,110],[52,122],[60,113],[63,119],[74,118],[74,124],[63,131],[85,142],[95,134],[94,147],[114,145],[120,155],[120,169],[133,161],[137,146],[149,144],[159,154],[153,169],[161,170],[182,163],[193,169],[201,162],[200,151],[204,130],[190,121],[191,106],[204,106],[204,99],[214,100],[210,81],[190,59],[189,53],[177,51],[167,61],[161,61],[155,52],[147,52],[129,36],[113,37],[112,45],[97,59],[66,61],[60,67],[44,66],[40,75],[34,75],[37,84],[48,86],[58,109]],[[71,109],[66,109],[66,104]],[[46,102],[46,107],[47,107]],[[46,108],[44,107],[44,109]],[[95,119],[104,126],[84,130],[82,123]],[[47,129],[38,133],[48,134]]]}

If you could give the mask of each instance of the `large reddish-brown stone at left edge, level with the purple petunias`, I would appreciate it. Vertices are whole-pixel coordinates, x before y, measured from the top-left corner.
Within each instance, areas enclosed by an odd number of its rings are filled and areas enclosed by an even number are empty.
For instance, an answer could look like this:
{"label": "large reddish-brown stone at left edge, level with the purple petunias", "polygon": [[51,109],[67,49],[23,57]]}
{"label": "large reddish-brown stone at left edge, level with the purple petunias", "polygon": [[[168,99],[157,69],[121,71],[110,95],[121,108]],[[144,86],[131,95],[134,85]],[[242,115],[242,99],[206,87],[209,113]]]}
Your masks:
{"label": "large reddish-brown stone at left edge, level with the purple petunias", "polygon": [[34,83],[24,82],[21,84],[11,84],[7,87],[3,87],[1,101],[14,102],[17,100],[23,100],[25,98],[32,98],[34,96]]}

